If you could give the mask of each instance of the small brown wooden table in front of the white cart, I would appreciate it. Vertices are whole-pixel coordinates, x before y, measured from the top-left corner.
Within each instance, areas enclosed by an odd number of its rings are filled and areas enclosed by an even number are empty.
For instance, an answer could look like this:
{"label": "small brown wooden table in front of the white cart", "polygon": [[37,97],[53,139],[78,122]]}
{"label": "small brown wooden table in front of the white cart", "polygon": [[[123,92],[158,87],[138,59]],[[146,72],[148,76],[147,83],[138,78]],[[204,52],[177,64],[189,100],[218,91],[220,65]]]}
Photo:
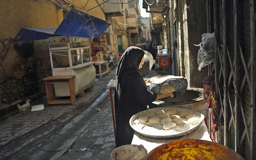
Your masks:
{"label": "small brown wooden table in front of the white cart", "polygon": [[[45,90],[47,103],[49,104],[74,104],[76,101],[76,95],[74,90],[74,77],[75,75],[70,76],[49,76],[44,78],[45,81]],[[70,99],[65,100],[54,100],[52,85],[57,83],[68,83],[70,91]]]}

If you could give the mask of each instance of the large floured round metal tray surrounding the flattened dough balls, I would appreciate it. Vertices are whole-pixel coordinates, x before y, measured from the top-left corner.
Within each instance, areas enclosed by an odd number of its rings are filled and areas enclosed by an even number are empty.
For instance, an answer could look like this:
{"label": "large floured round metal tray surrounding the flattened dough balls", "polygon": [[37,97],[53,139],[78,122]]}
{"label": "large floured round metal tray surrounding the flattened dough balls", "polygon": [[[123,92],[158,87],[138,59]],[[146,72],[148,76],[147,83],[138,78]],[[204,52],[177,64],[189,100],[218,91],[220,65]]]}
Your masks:
{"label": "large floured round metal tray surrounding the flattened dough balls", "polygon": [[[157,110],[171,110],[171,109],[174,109],[174,110],[177,110],[178,112],[179,111],[187,111],[189,113],[194,113],[197,115],[197,117],[200,118],[200,121],[199,123],[197,123],[196,125],[191,125],[191,127],[186,130],[186,131],[183,131],[183,132],[175,132],[175,133],[170,133],[168,130],[162,130],[161,132],[161,135],[159,135],[159,133],[157,132],[145,132],[144,130],[138,128],[135,126],[135,124],[133,124],[133,122],[140,116],[144,115],[145,113],[147,112],[156,112]],[[199,113],[199,112],[196,112],[196,111],[193,111],[193,110],[189,110],[189,109],[185,109],[185,108],[175,108],[175,107],[159,107],[159,108],[152,108],[152,109],[149,109],[149,110],[144,110],[144,111],[141,111],[139,113],[136,113],[135,115],[133,115],[129,121],[130,123],[130,126],[132,129],[134,129],[137,133],[145,136],[145,137],[150,137],[150,138],[159,138],[159,139],[164,139],[164,138],[172,138],[172,137],[180,137],[180,136],[184,136],[186,134],[189,134],[191,132],[193,132],[194,130],[196,130],[200,125],[201,123],[204,121],[204,115]]]}

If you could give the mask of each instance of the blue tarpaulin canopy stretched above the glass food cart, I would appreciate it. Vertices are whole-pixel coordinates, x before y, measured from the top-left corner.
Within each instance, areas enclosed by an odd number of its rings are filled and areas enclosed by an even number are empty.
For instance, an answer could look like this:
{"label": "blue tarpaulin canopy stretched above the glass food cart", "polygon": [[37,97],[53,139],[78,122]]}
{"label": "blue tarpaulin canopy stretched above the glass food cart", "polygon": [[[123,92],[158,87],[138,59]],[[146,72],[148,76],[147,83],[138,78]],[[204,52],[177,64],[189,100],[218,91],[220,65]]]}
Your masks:
{"label": "blue tarpaulin canopy stretched above the glass food cart", "polygon": [[43,40],[54,35],[94,38],[109,26],[105,20],[71,9],[58,28],[21,28],[14,41]]}

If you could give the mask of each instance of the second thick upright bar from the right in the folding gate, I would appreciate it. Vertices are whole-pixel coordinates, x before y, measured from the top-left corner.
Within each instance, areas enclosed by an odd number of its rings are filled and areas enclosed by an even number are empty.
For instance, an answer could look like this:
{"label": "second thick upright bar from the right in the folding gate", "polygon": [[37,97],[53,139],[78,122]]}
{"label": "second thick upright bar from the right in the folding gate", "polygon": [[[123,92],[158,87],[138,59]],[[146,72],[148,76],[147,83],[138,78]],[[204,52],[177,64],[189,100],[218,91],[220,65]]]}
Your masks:
{"label": "second thick upright bar from the right in the folding gate", "polygon": [[[234,0],[234,59],[235,59],[235,151],[239,151],[239,88],[240,88],[240,61],[239,61],[239,52],[238,52],[238,33],[237,33],[237,0]],[[233,112],[231,110],[231,112]]]}

